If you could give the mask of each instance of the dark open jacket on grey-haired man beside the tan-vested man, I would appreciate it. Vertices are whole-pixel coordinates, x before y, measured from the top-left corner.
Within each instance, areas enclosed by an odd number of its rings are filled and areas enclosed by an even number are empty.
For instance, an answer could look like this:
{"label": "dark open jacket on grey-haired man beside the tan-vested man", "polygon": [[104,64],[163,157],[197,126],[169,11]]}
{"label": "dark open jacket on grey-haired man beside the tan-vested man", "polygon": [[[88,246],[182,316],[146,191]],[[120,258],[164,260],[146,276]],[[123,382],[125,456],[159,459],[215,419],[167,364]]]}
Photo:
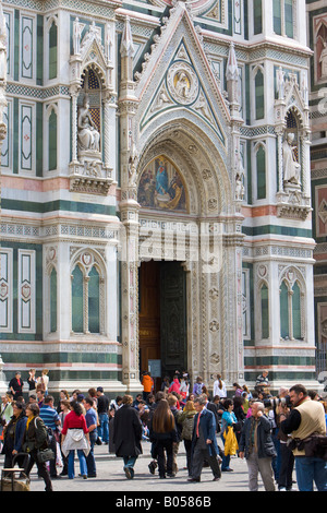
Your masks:
{"label": "dark open jacket on grey-haired man beside the tan-vested man", "polygon": [[[254,417],[250,417],[245,420],[239,443],[239,450],[240,452],[244,452],[246,458],[250,456],[252,448],[251,438],[253,422],[255,422]],[[265,415],[257,420],[257,455],[258,457],[271,457],[277,455],[271,439],[270,422]]]}

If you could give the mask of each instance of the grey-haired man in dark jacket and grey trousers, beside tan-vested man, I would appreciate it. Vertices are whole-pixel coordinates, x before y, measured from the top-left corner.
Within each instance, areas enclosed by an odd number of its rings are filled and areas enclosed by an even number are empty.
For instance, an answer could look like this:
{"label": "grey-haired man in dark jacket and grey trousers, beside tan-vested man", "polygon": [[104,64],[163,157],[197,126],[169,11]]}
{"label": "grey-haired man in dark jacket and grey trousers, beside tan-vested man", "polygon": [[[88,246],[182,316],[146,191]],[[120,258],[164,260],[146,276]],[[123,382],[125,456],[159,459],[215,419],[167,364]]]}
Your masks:
{"label": "grey-haired man in dark jacket and grey trousers, beside tan-vested man", "polygon": [[252,417],[244,422],[239,443],[239,456],[245,456],[249,468],[250,491],[258,490],[258,473],[261,473],[265,490],[275,491],[271,460],[276,456],[271,439],[271,427],[264,415],[264,404],[252,405]]}

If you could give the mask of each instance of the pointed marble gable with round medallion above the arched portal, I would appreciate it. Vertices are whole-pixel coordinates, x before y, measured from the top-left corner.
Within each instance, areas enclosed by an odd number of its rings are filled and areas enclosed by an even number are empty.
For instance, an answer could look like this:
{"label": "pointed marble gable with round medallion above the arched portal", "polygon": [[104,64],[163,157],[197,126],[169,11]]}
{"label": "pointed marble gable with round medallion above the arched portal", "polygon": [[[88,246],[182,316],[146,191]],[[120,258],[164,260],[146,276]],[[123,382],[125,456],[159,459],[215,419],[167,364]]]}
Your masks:
{"label": "pointed marble gable with round medallion above the arched portal", "polygon": [[170,11],[161,36],[145,56],[142,73],[135,75],[140,132],[159,122],[160,116],[167,119],[173,111],[183,117],[187,111],[226,146],[229,110],[185,4],[179,2]]}

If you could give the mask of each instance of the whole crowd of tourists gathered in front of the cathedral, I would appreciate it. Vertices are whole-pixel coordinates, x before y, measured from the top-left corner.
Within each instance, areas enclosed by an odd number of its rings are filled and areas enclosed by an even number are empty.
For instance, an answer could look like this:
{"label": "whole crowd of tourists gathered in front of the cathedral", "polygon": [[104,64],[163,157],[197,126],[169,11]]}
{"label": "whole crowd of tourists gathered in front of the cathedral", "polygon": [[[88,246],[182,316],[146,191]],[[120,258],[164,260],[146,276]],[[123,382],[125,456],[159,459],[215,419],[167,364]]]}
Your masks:
{"label": "whole crowd of tourists gathered in front of the cathedral", "polygon": [[149,473],[160,479],[177,476],[182,444],[187,482],[199,482],[204,466],[219,480],[222,473],[233,472],[235,456],[246,461],[251,491],[258,489],[258,476],[267,491],[292,490],[294,468],[299,490],[312,491],[315,485],[327,491],[327,404],[301,384],[272,396],[264,371],[253,391],[233,383],[228,393],[218,374],[210,395],[201,377],[191,386],[189,373],[177,371],[154,393],[154,380],[144,372],[143,393],[135,398],[110,401],[98,386],[71,396],[62,390],[55,404],[47,374],[36,379],[31,370],[25,403],[16,373],[0,409],[4,468],[12,467],[16,455],[27,454],[27,476],[36,464],[47,491],[52,479],[75,477],[75,452],[81,477],[97,477],[96,444],[108,444],[109,452],[122,457],[124,474],[133,479],[144,442],[150,444]]}

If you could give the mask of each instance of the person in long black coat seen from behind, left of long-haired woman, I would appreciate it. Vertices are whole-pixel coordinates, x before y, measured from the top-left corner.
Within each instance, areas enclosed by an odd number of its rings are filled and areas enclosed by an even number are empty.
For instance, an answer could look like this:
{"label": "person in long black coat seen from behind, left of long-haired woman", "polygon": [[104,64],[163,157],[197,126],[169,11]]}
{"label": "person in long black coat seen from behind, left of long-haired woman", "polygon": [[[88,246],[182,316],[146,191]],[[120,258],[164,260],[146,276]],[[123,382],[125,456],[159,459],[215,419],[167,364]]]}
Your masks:
{"label": "person in long black coat seen from behind, left of long-haired woman", "polygon": [[134,477],[134,465],[142,454],[142,422],[140,415],[132,406],[133,397],[124,395],[122,406],[113,417],[113,444],[116,455],[124,461],[124,473],[128,479]]}

